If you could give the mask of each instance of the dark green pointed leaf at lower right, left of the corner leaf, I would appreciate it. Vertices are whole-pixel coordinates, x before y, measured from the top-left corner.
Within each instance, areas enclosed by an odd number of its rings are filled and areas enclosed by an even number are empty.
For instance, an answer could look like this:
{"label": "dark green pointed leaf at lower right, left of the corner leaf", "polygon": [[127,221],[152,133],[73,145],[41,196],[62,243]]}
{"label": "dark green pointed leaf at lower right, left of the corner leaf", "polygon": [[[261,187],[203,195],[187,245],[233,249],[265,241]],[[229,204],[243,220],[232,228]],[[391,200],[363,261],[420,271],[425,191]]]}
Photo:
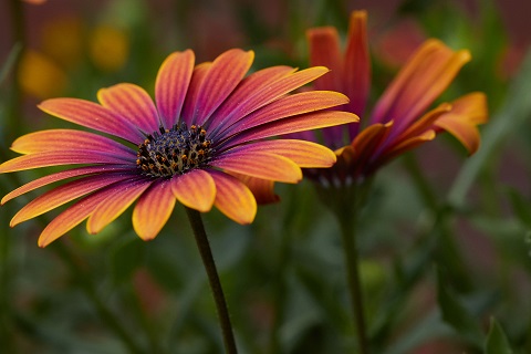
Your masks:
{"label": "dark green pointed leaf at lower right, left of the corner leaf", "polygon": [[485,335],[478,322],[459,299],[445,288],[445,281],[440,271],[437,275],[437,299],[442,320],[449,324],[464,341],[478,348],[482,347]]}

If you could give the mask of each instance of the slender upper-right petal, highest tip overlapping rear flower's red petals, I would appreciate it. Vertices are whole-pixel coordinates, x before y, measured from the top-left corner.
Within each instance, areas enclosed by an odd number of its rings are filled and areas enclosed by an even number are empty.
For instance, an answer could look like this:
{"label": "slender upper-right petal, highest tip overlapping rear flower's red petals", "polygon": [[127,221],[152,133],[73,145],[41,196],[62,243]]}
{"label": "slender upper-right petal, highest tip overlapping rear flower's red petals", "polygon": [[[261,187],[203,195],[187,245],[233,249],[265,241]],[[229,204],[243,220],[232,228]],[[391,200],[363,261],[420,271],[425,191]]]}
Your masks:
{"label": "slender upper-right petal, highest tip overlapping rear flower's red petals", "polygon": [[[323,66],[310,67],[289,75],[284,75],[270,84],[263,83],[261,90],[257,90],[256,92],[251,91],[251,88],[253,87],[248,87],[248,100],[241,102],[236,111],[230,112],[230,114],[227,113],[228,116],[223,118],[222,122],[217,121],[216,126],[214,126],[214,124],[209,126],[208,129],[210,134],[215,135],[217,134],[218,129],[225,129],[235,125],[236,122],[240,121],[249,113],[254,112],[259,107],[268,105],[269,103],[278,100],[287,93],[299,88],[302,85],[305,85],[306,83],[315,80],[316,77],[320,77],[327,72],[329,70]],[[216,115],[221,116],[221,114]]]}

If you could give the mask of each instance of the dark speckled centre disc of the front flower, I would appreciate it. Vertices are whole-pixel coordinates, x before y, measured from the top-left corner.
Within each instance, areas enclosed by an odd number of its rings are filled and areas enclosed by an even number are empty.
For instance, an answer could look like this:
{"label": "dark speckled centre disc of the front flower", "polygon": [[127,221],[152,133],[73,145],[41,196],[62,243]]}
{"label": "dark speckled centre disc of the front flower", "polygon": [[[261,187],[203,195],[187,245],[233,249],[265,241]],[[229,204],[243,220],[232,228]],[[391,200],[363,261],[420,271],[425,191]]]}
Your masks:
{"label": "dark speckled centre disc of the front flower", "polygon": [[211,140],[201,126],[185,123],[159,128],[138,145],[136,165],[150,177],[171,177],[206,164],[212,155]]}

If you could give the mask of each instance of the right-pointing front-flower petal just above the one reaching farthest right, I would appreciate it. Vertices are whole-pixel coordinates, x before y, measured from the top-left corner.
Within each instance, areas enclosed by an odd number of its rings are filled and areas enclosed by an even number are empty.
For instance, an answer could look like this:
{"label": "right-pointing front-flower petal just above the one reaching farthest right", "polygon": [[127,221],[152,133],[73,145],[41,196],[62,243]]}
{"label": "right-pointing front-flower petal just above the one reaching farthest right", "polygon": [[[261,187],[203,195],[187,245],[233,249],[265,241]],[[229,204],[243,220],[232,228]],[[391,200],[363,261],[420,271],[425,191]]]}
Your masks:
{"label": "right-pointing front-flower petal just above the one reaching farthest right", "polygon": [[[266,123],[278,121],[293,115],[315,112],[334,106],[339,106],[348,102],[348,98],[333,91],[309,91],[289,95],[279,98],[267,106],[251,113],[247,117],[227,127],[226,132],[219,131],[220,134],[231,135],[242,132]],[[211,135],[216,139],[215,135]]]}

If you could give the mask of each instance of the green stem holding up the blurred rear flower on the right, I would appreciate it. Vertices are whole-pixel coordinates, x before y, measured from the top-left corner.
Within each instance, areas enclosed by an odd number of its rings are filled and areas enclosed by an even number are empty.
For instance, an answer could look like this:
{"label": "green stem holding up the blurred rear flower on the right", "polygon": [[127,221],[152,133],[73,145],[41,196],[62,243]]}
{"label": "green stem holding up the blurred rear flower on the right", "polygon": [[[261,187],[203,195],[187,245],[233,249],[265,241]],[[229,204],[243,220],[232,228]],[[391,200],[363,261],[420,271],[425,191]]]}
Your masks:
{"label": "green stem holding up the blurred rear flower on the right", "polygon": [[343,239],[343,250],[345,253],[345,267],[347,275],[348,292],[353,309],[354,321],[357,331],[357,341],[360,353],[368,353],[368,341],[365,324],[365,313],[363,306],[362,282],[360,278],[360,257],[356,237],[357,206],[353,202],[354,212],[350,215],[337,215]]}

